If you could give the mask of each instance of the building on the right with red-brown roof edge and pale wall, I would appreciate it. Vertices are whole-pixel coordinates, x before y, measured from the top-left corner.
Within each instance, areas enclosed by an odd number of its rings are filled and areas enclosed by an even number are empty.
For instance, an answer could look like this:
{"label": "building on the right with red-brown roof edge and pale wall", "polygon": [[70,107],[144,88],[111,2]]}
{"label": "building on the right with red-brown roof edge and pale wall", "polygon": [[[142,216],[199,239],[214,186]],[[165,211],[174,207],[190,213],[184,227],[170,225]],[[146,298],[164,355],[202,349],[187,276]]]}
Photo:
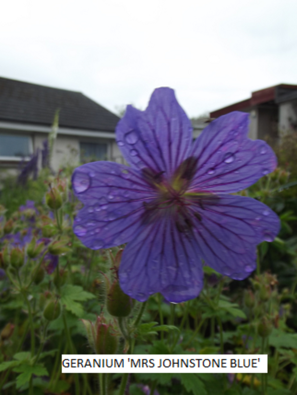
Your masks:
{"label": "building on the right with red-brown roof edge and pale wall", "polygon": [[249,137],[252,139],[275,139],[280,132],[297,131],[297,85],[280,84],[256,90],[246,100],[212,111],[210,118],[231,111],[250,114]]}

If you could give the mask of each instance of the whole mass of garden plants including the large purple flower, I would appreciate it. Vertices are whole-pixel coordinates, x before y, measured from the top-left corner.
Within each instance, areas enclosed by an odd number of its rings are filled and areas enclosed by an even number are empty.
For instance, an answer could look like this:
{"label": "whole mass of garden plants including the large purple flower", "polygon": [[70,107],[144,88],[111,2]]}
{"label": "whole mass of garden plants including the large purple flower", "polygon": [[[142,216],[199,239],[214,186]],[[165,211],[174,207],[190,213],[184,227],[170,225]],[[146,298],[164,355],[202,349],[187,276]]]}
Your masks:
{"label": "whole mass of garden plants including the large purple flower", "polygon": [[[127,165],[54,174],[56,127],[0,193],[0,394],[297,394],[296,136],[282,167],[245,113],[193,141],[158,88],[116,128]],[[92,353],[268,354],[268,373],[61,373]]]}

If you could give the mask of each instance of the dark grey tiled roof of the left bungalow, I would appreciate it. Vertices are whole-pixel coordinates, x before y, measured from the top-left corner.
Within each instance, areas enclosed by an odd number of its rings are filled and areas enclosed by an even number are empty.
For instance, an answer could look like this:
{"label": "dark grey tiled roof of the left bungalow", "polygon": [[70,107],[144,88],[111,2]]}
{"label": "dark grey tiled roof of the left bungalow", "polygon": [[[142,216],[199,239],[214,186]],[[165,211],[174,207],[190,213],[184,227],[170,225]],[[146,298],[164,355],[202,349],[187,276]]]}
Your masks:
{"label": "dark grey tiled roof of the left bungalow", "polygon": [[0,121],[50,126],[58,108],[60,127],[114,132],[120,120],[83,93],[0,77]]}

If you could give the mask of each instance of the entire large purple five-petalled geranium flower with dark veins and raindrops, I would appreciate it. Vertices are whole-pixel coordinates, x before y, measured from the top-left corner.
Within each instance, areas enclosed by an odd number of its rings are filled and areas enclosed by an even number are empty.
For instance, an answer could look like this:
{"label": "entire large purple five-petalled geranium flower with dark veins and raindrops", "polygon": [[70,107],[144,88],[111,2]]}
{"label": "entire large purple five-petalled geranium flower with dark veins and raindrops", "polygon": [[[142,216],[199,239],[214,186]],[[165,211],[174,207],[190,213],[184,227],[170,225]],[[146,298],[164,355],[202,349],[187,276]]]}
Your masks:
{"label": "entire large purple five-petalled geranium flower with dark veins and raindrops", "polygon": [[272,172],[276,157],[247,138],[248,114],[211,122],[193,143],[191,122],[174,91],[156,89],[145,111],[128,106],[116,128],[130,167],[93,162],[78,167],[73,190],[84,204],[74,233],[89,248],[128,242],[121,288],[145,301],[197,297],[202,264],[241,280],[256,267],[256,245],[273,241],[280,222],[263,203],[238,192]]}

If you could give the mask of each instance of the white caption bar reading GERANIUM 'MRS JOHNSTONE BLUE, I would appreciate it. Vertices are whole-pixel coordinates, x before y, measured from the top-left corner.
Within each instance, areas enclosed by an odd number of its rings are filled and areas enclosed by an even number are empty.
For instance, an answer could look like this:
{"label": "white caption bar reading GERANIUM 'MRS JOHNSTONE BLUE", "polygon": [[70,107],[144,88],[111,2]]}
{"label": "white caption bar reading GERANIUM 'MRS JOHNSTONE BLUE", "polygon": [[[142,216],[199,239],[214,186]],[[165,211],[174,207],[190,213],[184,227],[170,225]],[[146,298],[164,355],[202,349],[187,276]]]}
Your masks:
{"label": "white caption bar reading GERANIUM 'MRS JOHNSTONE BLUE", "polygon": [[267,355],[63,354],[62,373],[267,373]]}

